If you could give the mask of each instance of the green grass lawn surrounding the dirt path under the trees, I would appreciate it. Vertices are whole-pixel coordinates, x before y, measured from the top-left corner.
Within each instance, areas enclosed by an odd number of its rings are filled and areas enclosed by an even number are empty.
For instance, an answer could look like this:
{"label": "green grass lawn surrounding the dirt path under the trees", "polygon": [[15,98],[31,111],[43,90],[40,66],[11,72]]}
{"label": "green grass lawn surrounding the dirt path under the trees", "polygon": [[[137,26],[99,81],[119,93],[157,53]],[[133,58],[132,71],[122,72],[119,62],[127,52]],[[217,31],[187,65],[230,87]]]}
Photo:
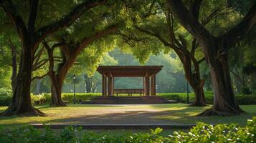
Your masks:
{"label": "green grass lawn surrounding the dirt path under the trees", "polygon": [[[136,110],[136,109],[148,109],[152,110],[151,116],[148,118],[163,120],[165,122],[178,122],[182,124],[195,124],[196,122],[206,122],[209,124],[218,123],[237,123],[245,124],[247,119],[256,117],[256,105],[242,105],[242,109],[247,114],[235,115],[231,117],[196,117],[196,114],[204,111],[207,107],[188,107],[187,104],[133,104],[133,105],[100,105],[100,104],[70,104],[68,107],[49,107],[49,106],[38,106],[42,112],[47,114],[47,117],[0,117],[1,127],[17,127],[25,124],[43,123],[43,124],[54,124],[62,123],[76,124],[74,119],[80,119],[81,117],[86,118],[87,113],[97,114],[99,112],[99,118],[106,117],[105,111],[125,111]],[[3,112],[6,107],[0,107],[0,112]],[[102,113],[100,113],[102,112]],[[161,116],[154,116],[154,112],[161,113]],[[84,116],[82,116],[82,114]],[[100,114],[104,114],[100,115]],[[136,115],[140,116],[145,113],[138,112]],[[112,116],[110,114],[110,116]],[[118,115],[117,115],[118,116]],[[90,117],[90,116],[88,116]]]}

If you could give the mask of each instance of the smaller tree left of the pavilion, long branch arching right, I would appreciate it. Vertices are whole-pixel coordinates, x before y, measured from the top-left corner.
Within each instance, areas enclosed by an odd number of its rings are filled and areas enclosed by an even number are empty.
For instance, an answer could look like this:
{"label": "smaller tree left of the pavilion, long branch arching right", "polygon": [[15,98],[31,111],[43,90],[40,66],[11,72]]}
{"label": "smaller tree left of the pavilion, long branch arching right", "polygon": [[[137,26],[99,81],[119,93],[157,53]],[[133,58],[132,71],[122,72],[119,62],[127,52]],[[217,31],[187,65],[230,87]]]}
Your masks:
{"label": "smaller tree left of the pavilion, long branch arching right", "polygon": [[[47,53],[49,56],[49,77],[52,81],[51,93],[52,100],[50,105],[52,106],[66,106],[61,99],[62,86],[67,74],[67,71],[72,67],[77,59],[77,56],[82,52],[83,49],[87,48],[93,41],[102,38],[105,35],[108,35],[115,31],[117,26],[111,25],[107,28],[96,31],[95,34],[91,36],[84,37],[80,41],[75,43],[71,40],[60,39],[58,43],[53,44],[52,47],[47,44],[47,41],[43,41]],[[54,70],[54,49],[60,46],[60,63],[57,65],[57,70]]]}

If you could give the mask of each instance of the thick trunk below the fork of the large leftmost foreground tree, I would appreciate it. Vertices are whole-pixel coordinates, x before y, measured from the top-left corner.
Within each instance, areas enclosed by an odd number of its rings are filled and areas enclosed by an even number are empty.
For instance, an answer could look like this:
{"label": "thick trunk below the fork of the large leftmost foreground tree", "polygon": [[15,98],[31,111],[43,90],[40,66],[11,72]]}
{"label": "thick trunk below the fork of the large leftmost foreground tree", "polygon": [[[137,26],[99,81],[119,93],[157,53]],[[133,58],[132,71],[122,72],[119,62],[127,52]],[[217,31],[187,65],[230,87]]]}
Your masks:
{"label": "thick trunk below the fork of the large leftmost foreground tree", "polygon": [[44,115],[38,109],[32,106],[30,97],[30,85],[32,79],[32,44],[24,44],[24,50],[19,62],[19,71],[16,77],[16,84],[8,109],[2,114],[3,116],[19,115],[34,116]]}

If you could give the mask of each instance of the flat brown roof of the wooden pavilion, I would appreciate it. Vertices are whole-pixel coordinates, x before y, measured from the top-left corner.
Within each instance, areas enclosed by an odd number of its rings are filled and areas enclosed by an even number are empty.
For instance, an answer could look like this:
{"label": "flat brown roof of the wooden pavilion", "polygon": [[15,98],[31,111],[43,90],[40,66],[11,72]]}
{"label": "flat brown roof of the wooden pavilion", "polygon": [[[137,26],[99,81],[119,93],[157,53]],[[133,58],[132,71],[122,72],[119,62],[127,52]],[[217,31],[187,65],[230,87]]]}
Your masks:
{"label": "flat brown roof of the wooden pavilion", "polygon": [[151,77],[161,71],[163,66],[98,66],[97,71],[107,77]]}

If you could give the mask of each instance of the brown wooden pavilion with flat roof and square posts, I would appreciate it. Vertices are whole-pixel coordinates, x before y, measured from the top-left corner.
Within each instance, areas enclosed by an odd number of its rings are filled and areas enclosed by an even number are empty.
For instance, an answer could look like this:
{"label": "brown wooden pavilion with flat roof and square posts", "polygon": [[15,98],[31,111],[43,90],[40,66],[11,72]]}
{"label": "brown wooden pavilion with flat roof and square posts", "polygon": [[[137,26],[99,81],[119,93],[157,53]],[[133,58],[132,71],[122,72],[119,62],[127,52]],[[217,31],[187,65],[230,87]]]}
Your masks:
{"label": "brown wooden pavilion with flat roof and square posts", "polygon": [[[115,93],[143,93],[156,95],[156,74],[163,66],[98,66],[97,71],[103,77],[103,96],[113,96]],[[143,77],[143,89],[115,89],[115,77]]]}

